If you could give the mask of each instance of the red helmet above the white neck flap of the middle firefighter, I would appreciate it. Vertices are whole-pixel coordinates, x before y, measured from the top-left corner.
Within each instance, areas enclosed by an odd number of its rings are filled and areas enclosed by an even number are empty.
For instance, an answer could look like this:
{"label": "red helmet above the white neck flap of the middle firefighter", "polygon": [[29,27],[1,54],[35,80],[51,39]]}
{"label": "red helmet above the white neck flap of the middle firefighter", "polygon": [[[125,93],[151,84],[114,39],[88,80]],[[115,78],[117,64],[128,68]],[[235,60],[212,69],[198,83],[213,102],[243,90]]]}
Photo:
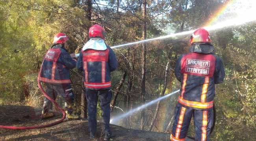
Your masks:
{"label": "red helmet above the white neck flap of the middle firefighter", "polygon": [[89,38],[91,37],[100,37],[104,39],[105,36],[105,30],[102,26],[95,24],[90,27],[89,29]]}

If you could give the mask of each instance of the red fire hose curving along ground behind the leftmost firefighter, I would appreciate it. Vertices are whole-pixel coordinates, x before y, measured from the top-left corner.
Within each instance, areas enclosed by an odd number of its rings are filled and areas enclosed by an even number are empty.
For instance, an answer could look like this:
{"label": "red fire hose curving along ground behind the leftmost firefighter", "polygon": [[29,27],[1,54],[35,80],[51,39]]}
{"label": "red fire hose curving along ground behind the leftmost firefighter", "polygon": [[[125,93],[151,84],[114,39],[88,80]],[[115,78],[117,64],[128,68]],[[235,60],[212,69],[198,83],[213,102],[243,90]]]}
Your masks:
{"label": "red fire hose curving along ground behind the leftmost firefighter", "polygon": [[63,110],[61,107],[59,107],[58,103],[55,102],[52,98],[50,98],[45,90],[42,88],[41,86],[41,83],[39,80],[37,80],[37,85],[39,87],[39,89],[43,92],[43,94],[45,95],[46,98],[48,98],[50,101],[52,101],[52,103],[54,103],[54,105],[62,112],[63,116],[60,120],[58,121],[55,121],[53,123],[49,123],[49,124],[46,124],[46,125],[35,125],[35,126],[28,126],[28,127],[15,127],[15,126],[4,126],[4,125],[0,125],[0,128],[6,128],[6,129],[14,129],[14,130],[26,130],[26,129],[35,129],[35,128],[44,128],[44,127],[50,127],[52,125],[56,125],[56,124],[59,124],[61,123],[65,117],[66,117],[66,113],[65,113],[65,110]]}

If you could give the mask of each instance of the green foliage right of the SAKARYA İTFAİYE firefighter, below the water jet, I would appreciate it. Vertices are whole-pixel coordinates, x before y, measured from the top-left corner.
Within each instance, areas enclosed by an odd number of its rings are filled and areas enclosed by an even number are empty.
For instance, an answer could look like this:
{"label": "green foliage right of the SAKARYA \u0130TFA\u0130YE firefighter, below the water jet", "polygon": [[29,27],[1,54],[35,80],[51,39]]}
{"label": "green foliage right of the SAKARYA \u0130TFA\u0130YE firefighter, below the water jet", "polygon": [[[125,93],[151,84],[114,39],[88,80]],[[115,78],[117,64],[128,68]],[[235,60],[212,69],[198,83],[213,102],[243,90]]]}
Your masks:
{"label": "green foliage right of the SAKARYA \u0130TFA\u0130YE firefighter, below the water jet", "polygon": [[[221,123],[217,124],[214,137],[220,141],[250,140],[255,135],[256,64],[251,40],[256,36],[254,28],[254,24],[243,25],[225,29],[226,34],[220,31],[213,35],[218,55],[226,66],[224,84],[217,86],[215,100],[219,108],[217,121]],[[241,130],[247,134],[237,136]]]}

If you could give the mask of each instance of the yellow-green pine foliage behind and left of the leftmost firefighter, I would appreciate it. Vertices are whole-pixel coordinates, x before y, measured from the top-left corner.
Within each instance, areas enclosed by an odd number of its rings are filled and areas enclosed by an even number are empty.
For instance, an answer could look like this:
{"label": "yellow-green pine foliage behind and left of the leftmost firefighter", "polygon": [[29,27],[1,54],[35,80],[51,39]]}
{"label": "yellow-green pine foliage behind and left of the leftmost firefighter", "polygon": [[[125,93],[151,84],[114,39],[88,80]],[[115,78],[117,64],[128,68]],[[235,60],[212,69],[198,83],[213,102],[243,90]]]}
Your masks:
{"label": "yellow-green pine foliage behind and left of the leftmost firefighter", "polygon": [[4,104],[24,100],[24,76],[38,72],[54,34],[70,36],[69,50],[74,51],[83,41],[88,20],[83,9],[69,0],[9,0],[0,5],[0,98],[7,99]]}

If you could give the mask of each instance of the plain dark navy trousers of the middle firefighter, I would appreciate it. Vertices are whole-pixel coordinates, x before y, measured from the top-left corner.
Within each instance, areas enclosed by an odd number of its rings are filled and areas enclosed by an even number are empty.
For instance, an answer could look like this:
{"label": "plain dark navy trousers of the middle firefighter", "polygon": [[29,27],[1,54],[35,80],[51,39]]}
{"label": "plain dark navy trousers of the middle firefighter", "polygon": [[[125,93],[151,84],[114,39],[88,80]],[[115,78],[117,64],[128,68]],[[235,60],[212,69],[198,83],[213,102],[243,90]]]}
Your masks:
{"label": "plain dark navy trousers of the middle firefighter", "polygon": [[91,90],[85,89],[85,96],[87,99],[88,107],[88,124],[89,132],[94,135],[96,133],[97,121],[96,121],[96,112],[97,112],[97,102],[98,98],[100,99],[100,108],[102,111],[102,123],[105,134],[110,134],[110,101],[112,97],[111,89],[106,90]]}

